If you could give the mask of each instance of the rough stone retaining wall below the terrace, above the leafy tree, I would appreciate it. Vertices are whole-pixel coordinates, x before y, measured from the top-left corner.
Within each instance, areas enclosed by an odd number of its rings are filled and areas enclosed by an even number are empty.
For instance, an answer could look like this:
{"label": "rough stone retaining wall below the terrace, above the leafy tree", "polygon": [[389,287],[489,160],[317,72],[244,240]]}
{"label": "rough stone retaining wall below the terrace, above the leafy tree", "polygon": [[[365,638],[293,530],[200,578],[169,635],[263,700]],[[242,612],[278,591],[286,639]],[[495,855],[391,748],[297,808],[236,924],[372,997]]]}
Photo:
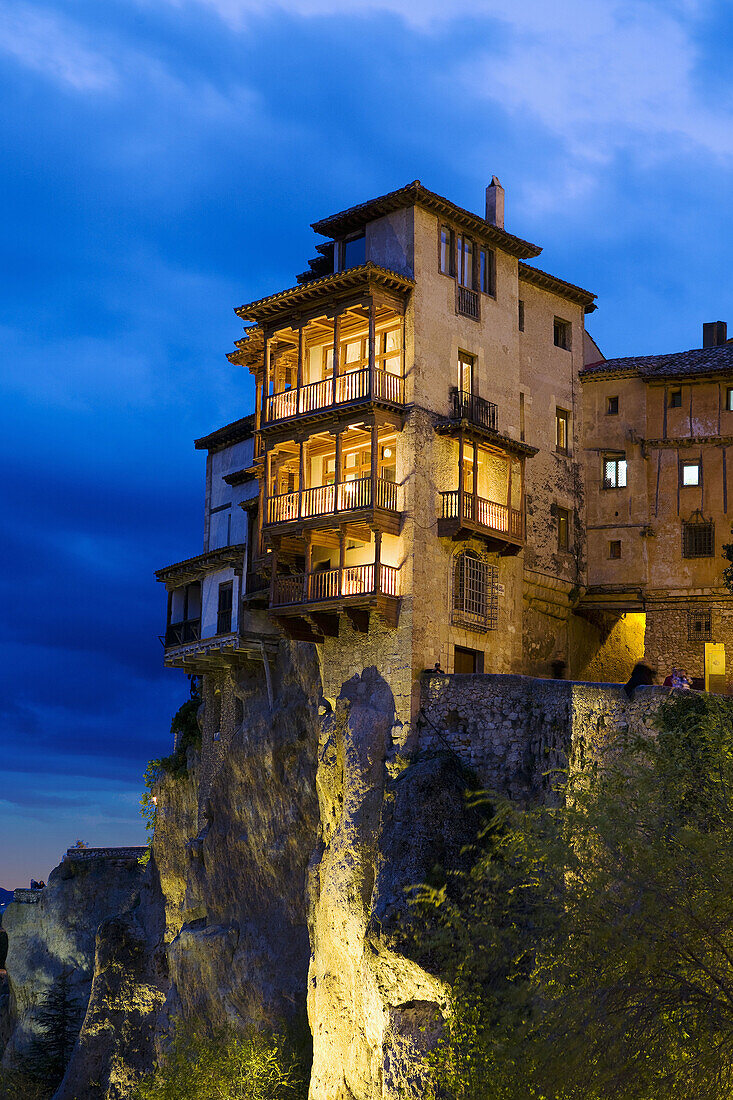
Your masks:
{"label": "rough stone retaining wall below the terrace, above the leafy tree", "polygon": [[419,745],[450,749],[491,790],[521,801],[548,798],[580,745],[642,732],[668,697],[664,688],[573,683],[533,676],[423,676]]}

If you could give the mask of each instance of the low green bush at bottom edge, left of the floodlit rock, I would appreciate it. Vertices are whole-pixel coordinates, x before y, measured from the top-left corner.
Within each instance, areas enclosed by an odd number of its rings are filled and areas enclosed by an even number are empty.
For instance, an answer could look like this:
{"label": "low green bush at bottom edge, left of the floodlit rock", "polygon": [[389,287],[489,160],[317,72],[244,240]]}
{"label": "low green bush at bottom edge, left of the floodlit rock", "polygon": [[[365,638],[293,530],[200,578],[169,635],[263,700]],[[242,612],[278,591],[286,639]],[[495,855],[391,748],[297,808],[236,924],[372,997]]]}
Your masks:
{"label": "low green bush at bottom edge, left of the floodlit rock", "polygon": [[165,1062],[138,1086],[135,1100],[305,1100],[307,1075],[277,1035],[180,1025]]}

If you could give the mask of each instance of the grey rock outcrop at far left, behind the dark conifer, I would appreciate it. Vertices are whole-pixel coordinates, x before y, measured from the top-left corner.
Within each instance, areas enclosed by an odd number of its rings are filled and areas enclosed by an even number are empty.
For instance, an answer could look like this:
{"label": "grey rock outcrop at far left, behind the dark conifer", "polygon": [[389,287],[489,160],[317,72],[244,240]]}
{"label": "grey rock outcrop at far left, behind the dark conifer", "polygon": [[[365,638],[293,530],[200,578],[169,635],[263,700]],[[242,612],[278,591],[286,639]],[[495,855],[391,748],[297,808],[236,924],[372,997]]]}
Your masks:
{"label": "grey rock outcrop at far left, behind the dark conifer", "polygon": [[95,968],[95,936],[106,919],[129,909],[142,883],[136,859],[62,862],[36,904],[12,902],[8,933],[10,1005],[3,1065],[21,1059],[36,1034],[33,1010],[62,972],[86,1005]]}

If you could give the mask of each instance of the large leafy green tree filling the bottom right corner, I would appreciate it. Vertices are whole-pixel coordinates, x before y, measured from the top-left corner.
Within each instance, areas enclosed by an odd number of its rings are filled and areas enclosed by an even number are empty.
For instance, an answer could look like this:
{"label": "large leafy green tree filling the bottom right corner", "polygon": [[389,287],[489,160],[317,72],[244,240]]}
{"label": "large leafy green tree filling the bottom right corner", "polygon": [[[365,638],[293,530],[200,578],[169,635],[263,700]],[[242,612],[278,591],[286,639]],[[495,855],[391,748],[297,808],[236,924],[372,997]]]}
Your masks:
{"label": "large leafy green tree filling the bottom right corner", "polygon": [[733,704],[672,696],[562,809],[495,804],[471,870],[416,904],[455,989],[436,1096],[727,1100]]}

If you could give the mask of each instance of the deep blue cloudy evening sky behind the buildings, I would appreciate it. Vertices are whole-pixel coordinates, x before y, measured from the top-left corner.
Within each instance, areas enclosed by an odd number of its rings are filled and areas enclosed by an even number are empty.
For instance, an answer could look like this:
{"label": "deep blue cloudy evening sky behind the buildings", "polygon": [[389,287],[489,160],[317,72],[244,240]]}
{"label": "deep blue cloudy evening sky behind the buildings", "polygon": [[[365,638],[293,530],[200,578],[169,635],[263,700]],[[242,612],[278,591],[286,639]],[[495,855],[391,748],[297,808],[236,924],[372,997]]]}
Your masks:
{"label": "deep blue cloudy evening sky behind the buildings", "polygon": [[733,324],[730,0],[2,0],[0,884],[141,844],[187,695],[153,572],[193,440],[251,410],[232,309],[419,178],[599,296],[606,356]]}

